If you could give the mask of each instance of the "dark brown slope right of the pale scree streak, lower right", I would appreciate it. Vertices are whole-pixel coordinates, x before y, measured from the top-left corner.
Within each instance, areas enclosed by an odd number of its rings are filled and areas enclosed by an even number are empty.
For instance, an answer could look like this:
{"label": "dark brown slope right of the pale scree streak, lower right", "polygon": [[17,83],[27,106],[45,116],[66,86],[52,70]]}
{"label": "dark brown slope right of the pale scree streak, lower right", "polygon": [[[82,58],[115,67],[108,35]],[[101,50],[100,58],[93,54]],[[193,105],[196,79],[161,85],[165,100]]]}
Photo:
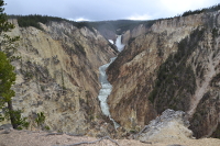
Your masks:
{"label": "dark brown slope right of the pale scree streak, lower right", "polygon": [[219,74],[210,81],[210,87],[202,96],[196,112],[191,119],[191,130],[195,136],[220,138],[220,98],[219,98]]}

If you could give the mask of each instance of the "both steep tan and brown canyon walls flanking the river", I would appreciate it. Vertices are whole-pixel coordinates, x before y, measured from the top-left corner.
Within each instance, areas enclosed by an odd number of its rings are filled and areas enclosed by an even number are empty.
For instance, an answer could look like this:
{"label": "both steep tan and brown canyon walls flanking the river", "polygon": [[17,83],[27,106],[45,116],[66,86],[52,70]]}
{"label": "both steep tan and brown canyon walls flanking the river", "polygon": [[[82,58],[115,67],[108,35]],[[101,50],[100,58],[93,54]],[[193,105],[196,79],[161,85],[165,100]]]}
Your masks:
{"label": "both steep tan and brown canyon walls flanking the river", "polygon": [[[38,22],[38,30],[10,22],[15,29],[9,35],[21,37],[15,53],[21,59],[12,63],[13,106],[23,111],[30,130],[44,112],[52,131],[121,138],[173,109],[186,112],[195,137],[220,137],[219,10],[139,22],[120,32],[123,50],[117,49],[117,29],[50,21]],[[99,67],[112,57],[106,71],[117,130],[98,99]]]}

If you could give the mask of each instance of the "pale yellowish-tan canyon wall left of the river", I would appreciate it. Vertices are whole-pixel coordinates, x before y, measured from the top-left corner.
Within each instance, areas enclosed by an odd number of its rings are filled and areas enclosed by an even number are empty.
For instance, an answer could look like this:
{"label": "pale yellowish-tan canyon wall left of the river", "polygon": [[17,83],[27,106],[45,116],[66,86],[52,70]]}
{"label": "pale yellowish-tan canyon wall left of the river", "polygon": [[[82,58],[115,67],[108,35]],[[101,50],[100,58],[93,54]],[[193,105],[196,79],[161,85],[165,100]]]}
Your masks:
{"label": "pale yellowish-tan canyon wall left of the river", "polygon": [[100,128],[98,68],[117,55],[109,42],[96,30],[65,21],[41,24],[44,31],[19,27],[16,20],[11,21],[16,27],[10,35],[21,37],[16,53],[21,59],[13,63],[13,104],[23,110],[31,128],[40,112],[54,131],[85,134]]}

